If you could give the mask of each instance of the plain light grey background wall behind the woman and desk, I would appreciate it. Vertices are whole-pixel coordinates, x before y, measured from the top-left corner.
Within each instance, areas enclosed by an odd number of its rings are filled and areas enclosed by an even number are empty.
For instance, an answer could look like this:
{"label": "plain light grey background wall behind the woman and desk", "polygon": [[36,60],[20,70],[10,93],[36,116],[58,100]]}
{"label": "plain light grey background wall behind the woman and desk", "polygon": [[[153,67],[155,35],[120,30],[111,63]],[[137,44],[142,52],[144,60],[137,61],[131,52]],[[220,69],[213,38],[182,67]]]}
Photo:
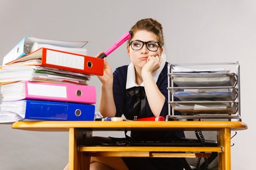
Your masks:
{"label": "plain light grey background wall behind the woman and desk", "polygon": [[[137,20],[155,18],[164,27],[169,62],[240,62],[241,114],[249,128],[231,139],[235,143],[231,147],[231,167],[251,169],[255,167],[256,129],[255,9],[254,0],[0,0],[1,63],[24,36],[89,41],[88,55],[96,56],[129,31]],[[130,63],[125,45],[107,59],[113,69]],[[92,76],[89,84],[97,87],[99,101],[97,77]],[[1,170],[63,169],[67,162],[68,133],[27,132],[0,125]]]}

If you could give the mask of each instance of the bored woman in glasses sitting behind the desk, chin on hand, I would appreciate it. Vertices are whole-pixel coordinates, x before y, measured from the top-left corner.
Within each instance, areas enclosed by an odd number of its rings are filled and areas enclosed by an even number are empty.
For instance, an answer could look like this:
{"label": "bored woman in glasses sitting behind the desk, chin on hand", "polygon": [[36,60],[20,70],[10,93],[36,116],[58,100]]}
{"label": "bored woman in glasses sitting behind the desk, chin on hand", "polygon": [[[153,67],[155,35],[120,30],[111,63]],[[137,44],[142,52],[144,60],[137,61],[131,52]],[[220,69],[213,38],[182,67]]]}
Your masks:
{"label": "bored woman in glasses sitting behind the desk, chin on hand", "polygon": [[[114,73],[106,58],[101,81],[99,111],[104,116],[137,118],[166,116],[168,114],[167,62],[162,55],[164,35],[162,25],[154,19],[139,20],[127,41],[129,66],[117,68]],[[102,52],[101,52],[102,53]],[[97,56],[99,56],[99,53]],[[170,141],[184,137],[183,132],[133,130],[125,140]],[[109,138],[109,140],[119,140]],[[124,140],[124,139],[122,139]],[[173,158],[106,158],[92,157],[90,169],[183,169]]]}

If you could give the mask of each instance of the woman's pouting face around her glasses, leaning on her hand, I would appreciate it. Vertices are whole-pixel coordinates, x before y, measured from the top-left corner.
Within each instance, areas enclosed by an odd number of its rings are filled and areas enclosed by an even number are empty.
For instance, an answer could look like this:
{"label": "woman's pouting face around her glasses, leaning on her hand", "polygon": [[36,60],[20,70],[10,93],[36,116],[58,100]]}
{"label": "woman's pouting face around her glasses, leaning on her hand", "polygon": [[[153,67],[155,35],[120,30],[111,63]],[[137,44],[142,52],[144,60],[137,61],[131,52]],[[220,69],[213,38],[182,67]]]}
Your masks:
{"label": "woman's pouting face around her glasses, leaning on her hand", "polygon": [[[135,32],[132,41],[139,40],[143,42],[155,41],[157,42],[156,35],[152,32],[148,32],[145,30],[139,30]],[[144,64],[147,62],[148,56],[161,56],[162,48],[158,48],[157,51],[150,51],[147,49],[146,44],[139,50],[133,50],[131,45],[127,46],[127,53],[134,64],[135,68],[142,68]]]}

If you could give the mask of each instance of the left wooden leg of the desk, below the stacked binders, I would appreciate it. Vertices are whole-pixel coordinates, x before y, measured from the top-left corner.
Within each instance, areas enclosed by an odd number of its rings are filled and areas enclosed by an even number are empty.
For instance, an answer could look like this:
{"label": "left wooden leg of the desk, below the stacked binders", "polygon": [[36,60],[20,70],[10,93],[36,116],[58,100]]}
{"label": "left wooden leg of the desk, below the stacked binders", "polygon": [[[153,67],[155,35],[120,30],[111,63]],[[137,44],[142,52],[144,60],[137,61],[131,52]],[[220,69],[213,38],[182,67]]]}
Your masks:
{"label": "left wooden leg of the desk, below the stacked binders", "polygon": [[84,156],[84,152],[78,152],[77,146],[85,140],[90,140],[91,131],[80,128],[69,128],[69,170],[83,170],[90,168],[90,157]]}

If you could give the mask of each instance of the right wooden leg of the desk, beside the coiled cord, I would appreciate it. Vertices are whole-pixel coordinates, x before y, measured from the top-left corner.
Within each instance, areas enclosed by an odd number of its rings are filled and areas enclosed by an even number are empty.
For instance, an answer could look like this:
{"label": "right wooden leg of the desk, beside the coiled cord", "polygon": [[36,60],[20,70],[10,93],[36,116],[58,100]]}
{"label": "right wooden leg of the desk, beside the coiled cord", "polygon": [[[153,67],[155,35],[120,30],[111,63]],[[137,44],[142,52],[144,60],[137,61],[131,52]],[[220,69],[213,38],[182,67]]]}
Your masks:
{"label": "right wooden leg of the desk, beside the coiled cord", "polygon": [[223,152],[218,153],[219,170],[230,170],[230,128],[223,128],[218,131],[218,144],[224,147]]}

